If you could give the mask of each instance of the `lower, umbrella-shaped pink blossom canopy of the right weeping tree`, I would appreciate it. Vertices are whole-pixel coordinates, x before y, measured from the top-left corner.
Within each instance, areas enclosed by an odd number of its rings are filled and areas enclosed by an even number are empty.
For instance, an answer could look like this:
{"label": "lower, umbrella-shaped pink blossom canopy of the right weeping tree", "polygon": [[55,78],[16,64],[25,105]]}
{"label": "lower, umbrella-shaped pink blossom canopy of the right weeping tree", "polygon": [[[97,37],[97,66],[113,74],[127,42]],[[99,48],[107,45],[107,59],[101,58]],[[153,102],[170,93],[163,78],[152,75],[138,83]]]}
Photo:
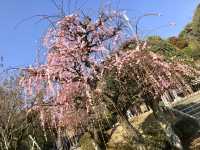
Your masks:
{"label": "lower, umbrella-shaped pink blossom canopy of the right weeping tree", "polygon": [[117,70],[116,80],[132,80],[137,83],[140,96],[151,94],[161,100],[169,89],[179,89],[191,93],[186,78],[197,78],[200,71],[180,62],[167,62],[164,57],[146,49],[146,43],[139,50],[118,53],[104,63],[105,73]]}

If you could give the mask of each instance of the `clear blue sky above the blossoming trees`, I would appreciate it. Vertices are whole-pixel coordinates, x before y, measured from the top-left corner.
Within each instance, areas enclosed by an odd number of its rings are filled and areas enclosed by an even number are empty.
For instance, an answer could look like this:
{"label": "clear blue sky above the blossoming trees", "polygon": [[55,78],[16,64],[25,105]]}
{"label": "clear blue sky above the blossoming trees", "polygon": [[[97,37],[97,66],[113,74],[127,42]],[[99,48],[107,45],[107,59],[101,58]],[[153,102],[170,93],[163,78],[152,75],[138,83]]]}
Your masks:
{"label": "clear blue sky above the blossoming trees", "polygon": [[[78,2],[77,6],[74,4],[75,1]],[[163,15],[143,19],[141,22],[143,29],[163,26],[171,21],[176,22],[175,27],[161,28],[152,32],[152,34],[168,37],[177,35],[192,19],[200,0],[111,0],[111,2],[114,8],[127,10],[130,18],[147,12],[158,12]],[[94,14],[100,5],[100,0],[71,0],[71,9],[82,7],[88,14]],[[65,8],[69,10],[67,5]],[[56,13],[58,11],[51,0],[2,0],[0,2],[0,56],[4,56],[6,67],[33,64],[35,50],[40,45],[38,41],[48,27],[45,21],[36,24],[38,19],[28,20],[17,29],[14,29],[15,25],[33,15],[55,15]]]}

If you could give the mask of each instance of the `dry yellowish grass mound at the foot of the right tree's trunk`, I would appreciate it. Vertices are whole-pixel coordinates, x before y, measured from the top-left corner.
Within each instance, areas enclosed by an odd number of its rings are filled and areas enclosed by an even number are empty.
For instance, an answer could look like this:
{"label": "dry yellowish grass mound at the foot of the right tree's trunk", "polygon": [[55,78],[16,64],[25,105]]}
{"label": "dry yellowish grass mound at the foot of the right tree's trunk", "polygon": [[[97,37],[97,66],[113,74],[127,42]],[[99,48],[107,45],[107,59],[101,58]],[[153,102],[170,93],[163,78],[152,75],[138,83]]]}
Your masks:
{"label": "dry yellowish grass mound at the foot of the right tree's trunk", "polygon": [[[134,117],[130,122],[142,133],[145,145],[149,150],[161,150],[165,147],[165,134],[155,120],[152,112],[146,112],[138,117]],[[130,138],[126,135],[126,131],[122,126],[117,126],[107,144],[108,150],[135,150],[131,145]]]}

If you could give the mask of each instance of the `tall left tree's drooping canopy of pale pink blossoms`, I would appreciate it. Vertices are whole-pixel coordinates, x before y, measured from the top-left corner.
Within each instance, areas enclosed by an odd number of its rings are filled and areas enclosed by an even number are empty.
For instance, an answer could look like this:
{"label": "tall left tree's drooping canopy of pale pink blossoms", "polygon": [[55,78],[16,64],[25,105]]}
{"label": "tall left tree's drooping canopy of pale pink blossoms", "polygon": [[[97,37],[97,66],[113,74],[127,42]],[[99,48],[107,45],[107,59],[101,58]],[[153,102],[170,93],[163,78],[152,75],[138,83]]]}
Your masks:
{"label": "tall left tree's drooping canopy of pale pink blossoms", "polygon": [[88,123],[88,116],[94,113],[91,90],[101,72],[101,65],[92,59],[92,54],[107,53],[111,43],[115,47],[124,27],[123,17],[113,11],[101,13],[96,21],[78,14],[65,16],[56,28],[48,30],[44,38],[46,63],[24,69],[21,80],[30,94],[45,89],[46,100],[34,107],[41,112],[43,124],[49,119],[54,126]]}

